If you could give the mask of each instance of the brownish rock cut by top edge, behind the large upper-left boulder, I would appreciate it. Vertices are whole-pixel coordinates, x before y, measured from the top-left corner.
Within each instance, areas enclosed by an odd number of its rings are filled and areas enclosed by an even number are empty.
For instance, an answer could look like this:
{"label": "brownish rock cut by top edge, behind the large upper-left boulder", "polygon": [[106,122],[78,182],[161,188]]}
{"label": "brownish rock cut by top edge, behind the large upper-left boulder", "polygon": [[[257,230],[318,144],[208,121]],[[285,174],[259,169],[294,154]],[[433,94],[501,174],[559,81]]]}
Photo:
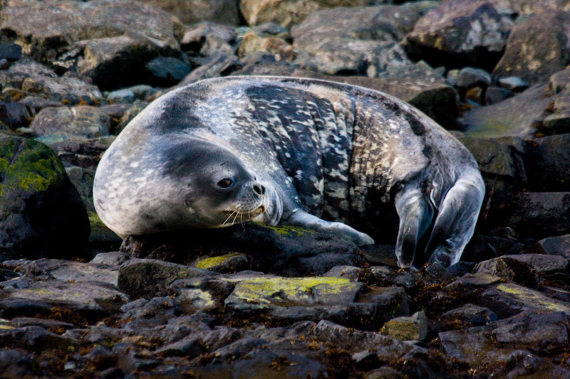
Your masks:
{"label": "brownish rock cut by top edge, behind the large upper-left boulder", "polygon": [[142,0],[142,2],[175,14],[187,25],[201,21],[239,25],[239,3],[233,0]]}

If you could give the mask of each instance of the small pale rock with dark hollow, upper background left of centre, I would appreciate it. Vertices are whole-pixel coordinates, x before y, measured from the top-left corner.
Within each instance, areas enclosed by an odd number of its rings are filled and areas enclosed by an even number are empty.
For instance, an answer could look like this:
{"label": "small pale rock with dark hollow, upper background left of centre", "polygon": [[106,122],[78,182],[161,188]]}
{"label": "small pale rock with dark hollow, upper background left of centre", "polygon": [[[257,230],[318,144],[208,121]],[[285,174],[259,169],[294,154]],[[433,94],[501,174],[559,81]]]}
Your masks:
{"label": "small pale rock with dark hollow, upper background left of centre", "polygon": [[230,26],[207,22],[198,23],[186,29],[180,48],[188,53],[199,53],[205,56],[216,53],[234,55],[232,43],[236,37],[236,29]]}

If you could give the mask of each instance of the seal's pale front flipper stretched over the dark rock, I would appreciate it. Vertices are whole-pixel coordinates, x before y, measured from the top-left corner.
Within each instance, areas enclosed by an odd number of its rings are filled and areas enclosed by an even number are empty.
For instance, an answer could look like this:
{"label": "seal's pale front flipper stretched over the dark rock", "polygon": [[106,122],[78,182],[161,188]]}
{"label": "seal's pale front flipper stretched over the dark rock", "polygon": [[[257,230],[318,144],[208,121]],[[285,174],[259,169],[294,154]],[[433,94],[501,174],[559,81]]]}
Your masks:
{"label": "seal's pale front flipper stretched over the dark rock", "polygon": [[296,210],[288,218],[281,218],[281,224],[291,226],[301,226],[303,228],[316,230],[317,232],[334,233],[346,240],[351,240],[357,246],[373,245],[374,240],[366,233],[361,233],[356,229],[343,223],[333,223],[321,220],[320,218],[306,213],[303,210]]}

